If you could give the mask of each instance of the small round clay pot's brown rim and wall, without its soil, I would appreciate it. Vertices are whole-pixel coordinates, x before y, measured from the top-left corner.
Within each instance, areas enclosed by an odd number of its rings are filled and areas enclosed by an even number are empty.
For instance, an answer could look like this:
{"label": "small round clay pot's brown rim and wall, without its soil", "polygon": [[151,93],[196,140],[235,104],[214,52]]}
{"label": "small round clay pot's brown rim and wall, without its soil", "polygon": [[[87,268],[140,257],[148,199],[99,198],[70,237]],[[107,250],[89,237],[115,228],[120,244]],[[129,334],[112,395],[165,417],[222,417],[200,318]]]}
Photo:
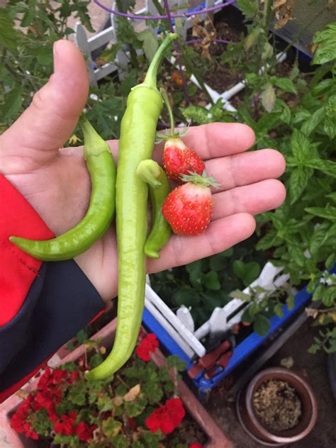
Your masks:
{"label": "small round clay pot's brown rim and wall, without its soil", "polygon": [[[254,412],[253,396],[259,386],[269,380],[286,381],[301,400],[302,415],[298,424],[289,430],[272,431],[262,425]],[[282,447],[306,437],[318,418],[318,404],[312,388],[300,375],[282,367],[271,367],[259,372],[240,391],[236,401],[237,415],[242,427],[257,442],[267,447]]]}

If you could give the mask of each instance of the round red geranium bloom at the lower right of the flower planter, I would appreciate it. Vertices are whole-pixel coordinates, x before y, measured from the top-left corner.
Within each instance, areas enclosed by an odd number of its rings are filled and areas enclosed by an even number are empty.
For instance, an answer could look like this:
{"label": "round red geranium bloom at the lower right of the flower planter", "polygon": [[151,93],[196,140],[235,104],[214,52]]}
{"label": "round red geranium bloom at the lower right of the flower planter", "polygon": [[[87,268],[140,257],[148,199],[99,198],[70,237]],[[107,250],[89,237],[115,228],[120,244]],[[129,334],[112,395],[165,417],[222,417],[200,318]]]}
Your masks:
{"label": "round red geranium bloom at the lower right of the flower planter", "polygon": [[171,398],[164,405],[153,410],[147,417],[145,425],[151,432],[161,430],[164,434],[169,434],[181,424],[184,415],[186,415],[186,411],[181,399]]}

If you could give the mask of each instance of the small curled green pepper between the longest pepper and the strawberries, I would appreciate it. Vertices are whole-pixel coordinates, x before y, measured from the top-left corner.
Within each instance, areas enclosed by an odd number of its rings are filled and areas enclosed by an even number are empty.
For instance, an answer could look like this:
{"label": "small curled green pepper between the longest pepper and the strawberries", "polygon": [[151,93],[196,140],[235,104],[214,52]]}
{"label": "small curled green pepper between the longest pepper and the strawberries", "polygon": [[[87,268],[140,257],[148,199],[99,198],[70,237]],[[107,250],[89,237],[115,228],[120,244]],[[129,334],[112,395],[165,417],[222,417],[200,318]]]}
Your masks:
{"label": "small curled green pepper between the longest pepper and the strawberries", "polygon": [[172,235],[172,228],[162,215],[162,204],[171,191],[169,179],[159,164],[152,159],[142,160],[137,174],[149,185],[152,203],[152,229],[145,242],[145,254],[150,258],[159,258],[159,251]]}

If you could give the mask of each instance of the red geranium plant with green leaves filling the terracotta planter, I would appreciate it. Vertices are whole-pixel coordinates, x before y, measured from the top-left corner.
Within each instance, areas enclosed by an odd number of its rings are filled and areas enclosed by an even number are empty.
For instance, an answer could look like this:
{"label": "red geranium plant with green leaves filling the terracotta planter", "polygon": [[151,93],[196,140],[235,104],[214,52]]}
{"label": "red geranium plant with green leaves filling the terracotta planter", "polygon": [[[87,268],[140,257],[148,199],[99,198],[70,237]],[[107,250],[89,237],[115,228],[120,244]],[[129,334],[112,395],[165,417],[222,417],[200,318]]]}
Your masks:
{"label": "red geranium plant with green leaves filling the terracotta planter", "polygon": [[[130,362],[112,380],[86,380],[84,371],[106,353],[86,341],[85,357],[57,369],[46,367],[37,388],[28,393],[11,418],[11,426],[30,439],[52,445],[101,448],[188,448],[206,441],[196,424],[185,419],[177,395],[177,372],[185,365],[167,358],[160,369],[150,360],[158,342],[142,335]],[[198,445],[201,447],[201,444]]]}

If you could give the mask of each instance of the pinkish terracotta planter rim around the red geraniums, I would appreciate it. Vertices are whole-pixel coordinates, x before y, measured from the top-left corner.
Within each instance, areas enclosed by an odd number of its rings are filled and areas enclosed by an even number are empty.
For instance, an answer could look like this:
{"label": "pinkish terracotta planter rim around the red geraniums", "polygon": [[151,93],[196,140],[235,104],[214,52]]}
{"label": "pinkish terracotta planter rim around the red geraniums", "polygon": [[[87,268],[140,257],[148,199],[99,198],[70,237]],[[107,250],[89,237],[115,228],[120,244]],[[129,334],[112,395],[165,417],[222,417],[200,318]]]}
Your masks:
{"label": "pinkish terracotta planter rim around the red geraniums", "polygon": [[[114,336],[116,334],[116,319],[112,320],[111,323],[101,328],[99,332],[91,337],[91,339],[96,340],[101,338],[101,344],[108,347],[113,344]],[[67,354],[59,364],[65,364],[66,362],[75,361],[81,357],[85,352],[84,346],[79,346],[74,349],[73,352]],[[165,357],[162,352],[157,350],[155,354],[152,354],[152,361],[157,364],[157,366],[162,367],[165,364]],[[38,384],[38,379],[32,381],[28,385],[24,386],[25,391],[33,391]],[[196,421],[203,432],[208,436],[208,442],[205,445],[206,448],[230,448],[232,443],[225,437],[222,430],[215,424],[211,415],[203,408],[201,403],[196,399],[194,393],[190,391],[188,386],[184,381],[178,381],[178,391],[181,400],[184,403],[186,410]],[[9,442],[15,448],[38,448],[38,441],[27,439],[24,435],[20,435],[15,432],[10,425],[11,415],[15,412],[16,408],[21,404],[22,399],[19,397],[20,393],[8,398],[2,405],[0,405],[0,427],[6,432]]]}

